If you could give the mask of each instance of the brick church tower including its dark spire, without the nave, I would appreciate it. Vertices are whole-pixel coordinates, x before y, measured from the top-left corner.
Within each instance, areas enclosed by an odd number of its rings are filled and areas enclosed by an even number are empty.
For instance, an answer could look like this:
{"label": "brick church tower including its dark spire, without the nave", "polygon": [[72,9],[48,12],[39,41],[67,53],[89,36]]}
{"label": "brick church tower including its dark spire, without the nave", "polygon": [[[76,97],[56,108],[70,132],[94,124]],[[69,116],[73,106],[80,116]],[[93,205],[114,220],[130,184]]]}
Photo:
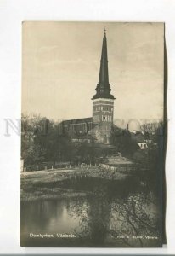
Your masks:
{"label": "brick church tower including its dark spire, without the nave", "polygon": [[104,29],[104,38],[99,69],[99,83],[93,96],[93,124],[96,125],[95,137],[99,143],[110,144],[111,127],[114,115],[115,97],[110,94],[108,74],[107,39]]}

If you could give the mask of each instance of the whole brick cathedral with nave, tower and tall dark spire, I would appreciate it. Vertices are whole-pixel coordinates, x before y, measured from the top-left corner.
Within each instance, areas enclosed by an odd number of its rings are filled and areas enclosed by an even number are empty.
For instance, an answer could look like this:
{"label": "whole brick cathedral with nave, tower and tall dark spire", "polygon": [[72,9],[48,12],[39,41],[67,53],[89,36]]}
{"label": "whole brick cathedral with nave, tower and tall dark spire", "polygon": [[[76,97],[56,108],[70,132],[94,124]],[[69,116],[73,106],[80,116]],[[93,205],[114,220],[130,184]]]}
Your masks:
{"label": "whole brick cathedral with nave, tower and tall dark spire", "polygon": [[99,83],[95,90],[96,93],[92,97],[93,117],[65,120],[61,123],[61,126],[63,132],[71,137],[72,142],[94,142],[110,146],[115,97],[110,94],[105,29],[99,68]]}

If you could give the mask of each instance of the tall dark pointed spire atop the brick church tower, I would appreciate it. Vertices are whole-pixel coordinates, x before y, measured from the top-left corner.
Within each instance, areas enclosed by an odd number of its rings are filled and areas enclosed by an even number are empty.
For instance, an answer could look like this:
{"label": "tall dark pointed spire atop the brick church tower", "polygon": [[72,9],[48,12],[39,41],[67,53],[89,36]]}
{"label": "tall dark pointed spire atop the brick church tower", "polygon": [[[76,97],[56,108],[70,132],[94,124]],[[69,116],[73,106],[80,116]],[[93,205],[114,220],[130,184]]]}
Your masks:
{"label": "tall dark pointed spire atop the brick church tower", "polygon": [[114,96],[110,94],[111,89],[109,84],[107,39],[106,39],[105,29],[104,29],[102,51],[101,51],[100,69],[99,69],[99,84],[97,84],[97,87],[95,90],[97,92],[93,96],[93,100],[98,98],[115,99]]}

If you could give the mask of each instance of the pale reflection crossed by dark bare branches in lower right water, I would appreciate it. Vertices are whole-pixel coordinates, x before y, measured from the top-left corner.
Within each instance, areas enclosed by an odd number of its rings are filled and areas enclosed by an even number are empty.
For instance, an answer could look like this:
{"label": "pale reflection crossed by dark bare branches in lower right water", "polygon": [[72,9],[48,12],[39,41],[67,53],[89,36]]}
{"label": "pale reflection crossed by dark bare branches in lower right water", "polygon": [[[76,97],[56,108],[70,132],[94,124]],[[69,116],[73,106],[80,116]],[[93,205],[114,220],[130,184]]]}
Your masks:
{"label": "pale reflection crossed by dark bare branches in lower right water", "polygon": [[[117,239],[118,236],[127,234],[128,238],[119,240],[122,245],[129,247],[149,247],[160,244],[160,218],[158,207],[152,193],[144,195],[139,193],[130,195],[127,199],[112,202],[110,233]],[[157,239],[146,239],[146,236]]]}

